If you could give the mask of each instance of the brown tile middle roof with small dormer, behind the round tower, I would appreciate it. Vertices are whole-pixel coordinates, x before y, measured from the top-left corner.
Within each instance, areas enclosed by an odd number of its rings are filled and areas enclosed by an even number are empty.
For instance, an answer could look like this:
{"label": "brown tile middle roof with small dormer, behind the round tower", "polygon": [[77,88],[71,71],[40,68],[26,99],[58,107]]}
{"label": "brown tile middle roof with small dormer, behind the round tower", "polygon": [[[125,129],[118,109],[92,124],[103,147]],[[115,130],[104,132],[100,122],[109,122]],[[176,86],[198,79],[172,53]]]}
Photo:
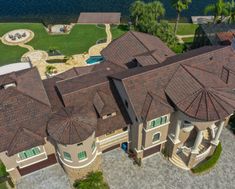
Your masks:
{"label": "brown tile middle roof with small dormer, behind the round tower", "polygon": [[[129,117],[125,112],[124,105],[120,100],[114,84],[108,79],[109,74],[125,69],[107,61],[89,67],[92,68],[90,69],[90,73],[80,74],[79,76],[77,72],[79,72],[80,69],[77,68],[76,75],[74,75],[74,72],[70,72],[69,74],[63,75],[67,77],[64,77],[65,79],[59,79],[61,76],[57,76],[56,78],[44,81],[53,111],[58,111],[63,107],[78,106],[87,107],[88,112],[97,112],[96,136],[126,127],[130,124]],[[72,91],[63,94],[62,92],[67,91],[61,90],[61,86],[57,88],[58,83],[66,82],[69,84],[68,81],[71,80],[77,81],[72,83]],[[63,83],[62,86],[66,85]],[[104,120],[101,118],[103,115],[114,112],[116,112],[116,116]]]}

